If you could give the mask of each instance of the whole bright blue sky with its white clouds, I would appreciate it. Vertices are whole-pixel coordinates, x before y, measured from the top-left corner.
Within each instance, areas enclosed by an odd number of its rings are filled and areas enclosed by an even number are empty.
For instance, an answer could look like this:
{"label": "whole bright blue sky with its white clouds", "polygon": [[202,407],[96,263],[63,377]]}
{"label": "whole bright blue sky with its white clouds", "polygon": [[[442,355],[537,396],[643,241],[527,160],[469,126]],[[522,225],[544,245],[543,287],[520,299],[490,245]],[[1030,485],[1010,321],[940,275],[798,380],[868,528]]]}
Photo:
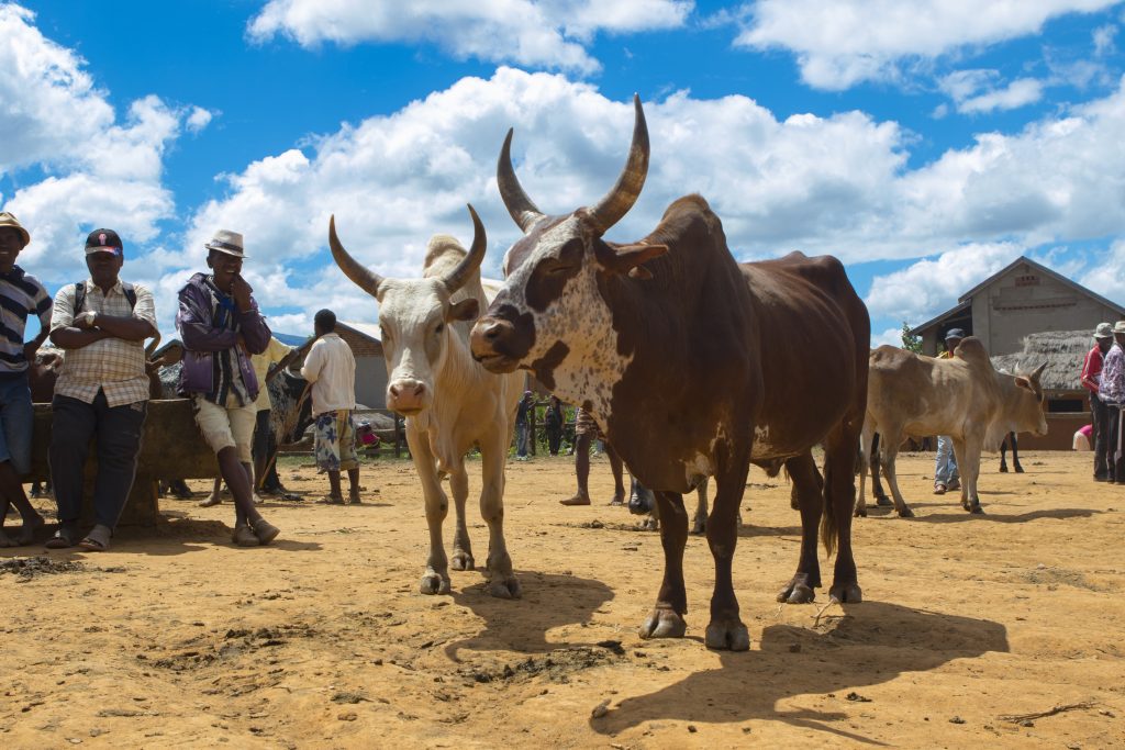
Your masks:
{"label": "whole bright blue sky with its white clouds", "polygon": [[0,3],[0,204],[52,291],[86,232],[118,229],[165,334],[202,242],[241,231],[299,334],[321,307],[375,319],[330,214],[417,275],[472,202],[496,275],[507,127],[525,188],[567,211],[615,178],[636,91],[652,168],[610,238],[699,191],[740,259],[840,256],[896,341],[1019,254],[1125,301],[1123,26],[1108,0]]}

